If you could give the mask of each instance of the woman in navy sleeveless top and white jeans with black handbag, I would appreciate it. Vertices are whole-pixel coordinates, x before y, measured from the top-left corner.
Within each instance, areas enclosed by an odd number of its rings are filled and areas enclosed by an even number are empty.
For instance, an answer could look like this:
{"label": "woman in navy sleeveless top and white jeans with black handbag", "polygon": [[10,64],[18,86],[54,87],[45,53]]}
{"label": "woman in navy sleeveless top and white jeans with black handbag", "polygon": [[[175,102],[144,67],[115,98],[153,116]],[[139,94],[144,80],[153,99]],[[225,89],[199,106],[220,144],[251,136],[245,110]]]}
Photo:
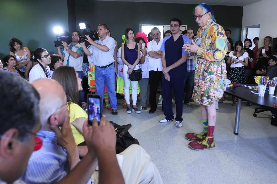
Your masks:
{"label": "woman in navy sleeveless top and white jeans with black handbag", "polygon": [[137,114],[140,110],[137,108],[137,97],[138,97],[138,81],[132,81],[132,99],[133,107],[130,105],[130,83],[129,75],[133,70],[139,69],[138,62],[140,60],[140,46],[135,42],[134,30],[132,28],[127,28],[125,30],[125,44],[122,45],[121,59],[124,63],[123,66],[123,78],[124,78],[124,96],[127,103],[127,113],[130,114],[132,111]]}

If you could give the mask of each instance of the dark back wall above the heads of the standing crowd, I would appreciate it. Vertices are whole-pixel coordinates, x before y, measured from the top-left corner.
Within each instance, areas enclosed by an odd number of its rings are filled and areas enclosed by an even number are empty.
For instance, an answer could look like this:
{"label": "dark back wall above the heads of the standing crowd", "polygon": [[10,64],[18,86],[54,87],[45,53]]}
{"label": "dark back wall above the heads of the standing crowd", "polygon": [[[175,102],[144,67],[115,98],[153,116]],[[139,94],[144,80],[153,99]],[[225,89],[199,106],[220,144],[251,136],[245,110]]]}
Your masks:
{"label": "dark back wall above the heads of the standing crowd", "polygon": [[[170,20],[178,17],[183,25],[197,31],[198,24],[193,18],[196,5],[174,3],[115,2],[115,1],[76,1],[76,26],[86,22],[91,29],[97,29],[99,23],[105,23],[112,37],[121,43],[121,35],[127,27],[139,31],[139,24],[169,25]],[[212,6],[216,22],[224,29],[232,30],[231,38],[240,40],[243,7]],[[235,12],[235,13],[234,13]]]}

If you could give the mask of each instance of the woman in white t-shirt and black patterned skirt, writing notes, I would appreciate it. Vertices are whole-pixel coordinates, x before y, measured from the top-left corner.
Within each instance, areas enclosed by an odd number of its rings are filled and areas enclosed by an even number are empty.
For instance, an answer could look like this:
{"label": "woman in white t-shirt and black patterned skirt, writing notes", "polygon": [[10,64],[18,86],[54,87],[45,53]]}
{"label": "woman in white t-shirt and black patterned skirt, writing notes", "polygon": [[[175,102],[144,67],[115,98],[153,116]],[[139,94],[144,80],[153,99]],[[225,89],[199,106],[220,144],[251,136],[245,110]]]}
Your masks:
{"label": "woman in white t-shirt and black patterned skirt, writing notes", "polygon": [[[248,65],[248,53],[244,51],[242,41],[236,41],[234,51],[230,52],[227,64],[230,65],[228,79],[231,83],[245,83],[245,69]],[[236,106],[234,98],[232,106]]]}

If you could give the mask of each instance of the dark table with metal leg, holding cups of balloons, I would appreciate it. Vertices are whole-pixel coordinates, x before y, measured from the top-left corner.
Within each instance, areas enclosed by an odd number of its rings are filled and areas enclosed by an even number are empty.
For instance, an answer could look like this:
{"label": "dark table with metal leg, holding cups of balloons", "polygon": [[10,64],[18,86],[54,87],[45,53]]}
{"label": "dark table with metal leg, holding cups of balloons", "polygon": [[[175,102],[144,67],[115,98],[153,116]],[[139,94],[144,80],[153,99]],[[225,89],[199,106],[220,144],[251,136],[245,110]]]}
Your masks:
{"label": "dark table with metal leg, holding cups of balloons", "polygon": [[[246,84],[246,85],[253,86],[253,84]],[[244,86],[236,87],[234,88],[234,91],[235,93],[232,92],[231,88],[229,87],[229,88],[226,88],[225,93],[238,98],[237,107],[236,107],[235,128],[234,128],[235,135],[238,135],[238,128],[240,124],[240,108],[241,108],[242,100],[248,101],[262,108],[268,109],[271,112],[277,112],[277,107],[274,106],[274,104],[277,104],[277,99],[269,95],[268,91],[265,92],[264,97],[259,97],[259,95],[251,93],[252,89],[249,89],[248,87],[244,87]],[[274,96],[276,96],[276,93],[274,93]]]}

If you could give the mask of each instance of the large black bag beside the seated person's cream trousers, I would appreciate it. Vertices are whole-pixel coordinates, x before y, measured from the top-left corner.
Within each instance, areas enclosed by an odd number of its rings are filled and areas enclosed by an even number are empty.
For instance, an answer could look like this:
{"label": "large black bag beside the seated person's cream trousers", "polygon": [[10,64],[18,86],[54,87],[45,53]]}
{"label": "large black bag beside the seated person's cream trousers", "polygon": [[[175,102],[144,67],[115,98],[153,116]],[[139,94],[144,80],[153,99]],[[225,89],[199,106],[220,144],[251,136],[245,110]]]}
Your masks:
{"label": "large black bag beside the seated person's cream trousers", "polygon": [[132,144],[138,144],[138,140],[133,138],[128,130],[132,127],[131,124],[127,125],[118,125],[114,122],[111,122],[115,127],[117,143],[116,143],[116,154],[123,152],[126,148],[128,148]]}

